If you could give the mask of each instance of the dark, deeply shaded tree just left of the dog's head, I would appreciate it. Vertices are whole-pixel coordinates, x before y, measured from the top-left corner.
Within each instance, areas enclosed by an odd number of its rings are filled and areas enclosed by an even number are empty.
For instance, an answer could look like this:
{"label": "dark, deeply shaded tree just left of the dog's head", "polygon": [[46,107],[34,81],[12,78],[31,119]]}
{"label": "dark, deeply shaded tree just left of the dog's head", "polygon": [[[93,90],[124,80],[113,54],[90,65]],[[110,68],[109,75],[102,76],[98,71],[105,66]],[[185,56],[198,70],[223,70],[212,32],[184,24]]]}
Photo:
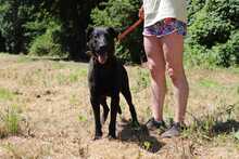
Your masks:
{"label": "dark, deeply shaded tree just left of the dog's head", "polygon": [[103,0],[45,0],[45,6],[62,22],[61,42],[70,58],[86,59],[85,30],[90,23],[90,12]]}

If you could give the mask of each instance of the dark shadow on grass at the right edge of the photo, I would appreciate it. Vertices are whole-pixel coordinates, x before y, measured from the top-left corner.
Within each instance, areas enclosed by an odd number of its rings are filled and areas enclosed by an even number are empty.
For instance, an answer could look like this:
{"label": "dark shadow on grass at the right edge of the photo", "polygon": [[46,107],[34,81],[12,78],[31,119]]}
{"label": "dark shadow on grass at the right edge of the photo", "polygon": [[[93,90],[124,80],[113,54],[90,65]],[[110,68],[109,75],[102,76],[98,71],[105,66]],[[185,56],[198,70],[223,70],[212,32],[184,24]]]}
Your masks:
{"label": "dark shadow on grass at the right edge of the photo", "polygon": [[234,119],[227,120],[225,122],[216,122],[216,124],[213,125],[213,132],[216,134],[237,132],[238,130],[239,122]]}

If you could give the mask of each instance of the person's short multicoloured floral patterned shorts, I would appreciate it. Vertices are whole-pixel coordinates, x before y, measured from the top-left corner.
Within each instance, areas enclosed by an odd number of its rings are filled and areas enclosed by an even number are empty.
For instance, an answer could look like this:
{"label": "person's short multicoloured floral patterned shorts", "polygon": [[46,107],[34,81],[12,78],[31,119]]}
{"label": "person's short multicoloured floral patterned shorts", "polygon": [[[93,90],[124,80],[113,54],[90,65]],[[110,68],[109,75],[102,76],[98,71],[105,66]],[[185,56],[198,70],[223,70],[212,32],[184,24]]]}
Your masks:
{"label": "person's short multicoloured floral patterned shorts", "polygon": [[144,27],[142,35],[143,36],[156,36],[161,38],[163,36],[177,32],[178,35],[186,36],[187,35],[187,24],[177,21],[176,18],[164,18],[155,23],[152,26]]}

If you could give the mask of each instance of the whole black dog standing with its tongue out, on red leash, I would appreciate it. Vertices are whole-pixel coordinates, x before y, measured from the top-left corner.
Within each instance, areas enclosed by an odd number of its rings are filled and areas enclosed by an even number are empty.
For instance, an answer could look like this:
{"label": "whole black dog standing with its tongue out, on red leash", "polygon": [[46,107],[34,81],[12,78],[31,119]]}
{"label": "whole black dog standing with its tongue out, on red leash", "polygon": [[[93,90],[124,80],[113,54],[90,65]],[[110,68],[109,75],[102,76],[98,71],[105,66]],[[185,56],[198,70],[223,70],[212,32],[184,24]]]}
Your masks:
{"label": "whole black dog standing with its tongue out, on red leash", "polygon": [[[138,127],[135,106],[131,102],[128,76],[126,69],[114,55],[116,31],[111,27],[89,28],[87,31],[87,47],[91,55],[89,62],[88,83],[90,102],[93,109],[96,134],[95,140],[102,136],[101,123],[104,123],[109,114],[106,96],[111,97],[111,121],[109,137],[116,138],[115,122],[117,112],[121,114],[120,92],[124,95],[133,119],[133,124]],[[100,105],[103,114],[100,117]],[[100,119],[101,118],[101,119]]]}

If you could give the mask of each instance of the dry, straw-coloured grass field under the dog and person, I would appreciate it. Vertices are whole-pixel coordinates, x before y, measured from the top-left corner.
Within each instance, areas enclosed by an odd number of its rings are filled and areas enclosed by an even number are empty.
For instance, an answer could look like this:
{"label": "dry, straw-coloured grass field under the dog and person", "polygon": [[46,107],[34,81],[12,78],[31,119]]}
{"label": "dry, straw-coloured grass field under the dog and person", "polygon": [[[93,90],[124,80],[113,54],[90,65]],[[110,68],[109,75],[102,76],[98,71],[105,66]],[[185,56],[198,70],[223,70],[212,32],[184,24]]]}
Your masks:
{"label": "dry, straw-coloured grass field under the dog and person", "polygon": [[[239,158],[238,68],[186,68],[188,129],[175,138],[143,129],[151,117],[149,72],[126,68],[142,129],[128,125],[122,97],[118,138],[106,138],[108,120],[103,138],[92,142],[86,63],[0,54],[0,159]],[[167,83],[164,112],[169,121],[174,101]]]}

